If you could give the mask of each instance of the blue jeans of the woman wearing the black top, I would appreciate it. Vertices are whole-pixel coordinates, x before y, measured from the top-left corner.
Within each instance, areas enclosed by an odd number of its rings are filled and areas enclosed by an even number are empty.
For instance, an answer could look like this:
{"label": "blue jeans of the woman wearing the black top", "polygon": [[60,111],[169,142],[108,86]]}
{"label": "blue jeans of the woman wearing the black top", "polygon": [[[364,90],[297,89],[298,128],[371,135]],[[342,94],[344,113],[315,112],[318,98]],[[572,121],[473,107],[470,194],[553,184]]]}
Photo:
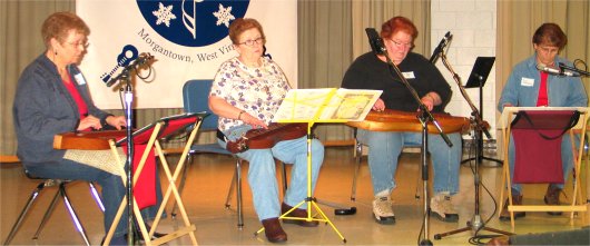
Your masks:
{"label": "blue jeans of the woman wearing the black top", "polygon": [[[429,152],[433,165],[434,193],[459,191],[459,166],[462,142],[460,134],[449,134],[453,147],[449,147],[440,135],[429,134]],[[421,132],[368,131],[358,129],[357,140],[368,146],[368,168],[373,183],[373,194],[392,191],[395,185],[397,160],[405,145],[422,144]]]}

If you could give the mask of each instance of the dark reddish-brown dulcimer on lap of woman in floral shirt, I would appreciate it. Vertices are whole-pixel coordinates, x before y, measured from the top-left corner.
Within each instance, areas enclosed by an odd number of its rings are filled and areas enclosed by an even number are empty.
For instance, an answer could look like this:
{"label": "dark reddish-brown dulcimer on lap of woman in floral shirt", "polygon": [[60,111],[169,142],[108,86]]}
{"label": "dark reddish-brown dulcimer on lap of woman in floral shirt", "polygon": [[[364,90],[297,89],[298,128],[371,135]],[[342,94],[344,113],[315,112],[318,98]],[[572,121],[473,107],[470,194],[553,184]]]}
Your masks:
{"label": "dark reddish-brown dulcimer on lap of woman in floral shirt", "polygon": [[248,149],[272,148],[282,140],[301,138],[307,134],[307,124],[271,124],[268,129],[250,129],[242,138],[227,141],[230,152],[243,152]]}

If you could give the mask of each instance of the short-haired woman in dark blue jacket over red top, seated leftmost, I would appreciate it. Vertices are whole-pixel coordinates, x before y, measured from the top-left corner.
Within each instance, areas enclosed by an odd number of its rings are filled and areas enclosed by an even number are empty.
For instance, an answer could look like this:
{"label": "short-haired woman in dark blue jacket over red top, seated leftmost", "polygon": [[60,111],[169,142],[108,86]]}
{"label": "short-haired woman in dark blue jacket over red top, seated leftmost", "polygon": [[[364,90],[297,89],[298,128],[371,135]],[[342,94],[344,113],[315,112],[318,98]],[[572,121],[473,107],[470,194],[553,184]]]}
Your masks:
{"label": "short-haired woman in dark blue jacket over red top, seated leftmost", "polygon": [[[86,55],[89,35],[86,22],[71,12],[56,12],[45,20],[41,36],[47,50],[22,71],[12,112],[17,155],[27,171],[40,178],[98,183],[102,187],[108,232],[126,195],[121,177],[114,168],[107,168],[116,164],[110,150],[53,149],[53,136],[58,134],[126,126],[122,116],[112,116],[94,105],[88,83],[77,68]],[[160,193],[157,190],[158,198]],[[154,218],[156,209],[142,210],[144,217]],[[111,245],[127,245],[126,217],[127,213],[122,213]]]}

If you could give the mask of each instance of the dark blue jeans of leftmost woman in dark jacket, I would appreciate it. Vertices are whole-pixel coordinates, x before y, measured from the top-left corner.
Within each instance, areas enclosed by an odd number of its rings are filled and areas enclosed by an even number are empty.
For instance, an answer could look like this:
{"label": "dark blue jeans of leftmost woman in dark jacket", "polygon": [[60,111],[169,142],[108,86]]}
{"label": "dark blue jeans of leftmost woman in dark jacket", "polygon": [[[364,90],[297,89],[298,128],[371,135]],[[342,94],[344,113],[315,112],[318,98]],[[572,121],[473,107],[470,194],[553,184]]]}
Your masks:
{"label": "dark blue jeans of leftmost woman in dark jacket", "polygon": [[[121,177],[90,167],[83,164],[76,163],[69,159],[61,159],[59,161],[43,163],[43,164],[23,164],[27,171],[39,178],[59,178],[70,180],[86,180],[98,183],[102,187],[101,200],[105,205],[105,234],[110,229],[110,225],[115,220],[119,205],[122,198],[127,195],[127,189],[122,184]],[[141,209],[141,215],[145,219],[154,219],[157,209],[161,204],[163,195],[159,183],[158,173],[156,171],[156,205]],[[165,217],[165,216],[163,216]],[[121,215],[119,224],[115,229],[114,237],[121,237],[127,234],[127,207]]]}

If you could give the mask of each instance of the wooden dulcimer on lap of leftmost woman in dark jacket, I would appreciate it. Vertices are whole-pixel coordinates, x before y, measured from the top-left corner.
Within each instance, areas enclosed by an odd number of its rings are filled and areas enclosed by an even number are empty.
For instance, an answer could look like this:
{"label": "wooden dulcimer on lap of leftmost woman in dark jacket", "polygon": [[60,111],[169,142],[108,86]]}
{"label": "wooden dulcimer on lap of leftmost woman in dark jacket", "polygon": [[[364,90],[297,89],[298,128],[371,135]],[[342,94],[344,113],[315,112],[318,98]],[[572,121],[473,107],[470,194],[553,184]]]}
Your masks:
{"label": "wooden dulcimer on lap of leftmost woman in dark jacket", "polygon": [[126,130],[77,131],[58,134],[53,137],[55,149],[110,149],[109,139],[127,136]]}

